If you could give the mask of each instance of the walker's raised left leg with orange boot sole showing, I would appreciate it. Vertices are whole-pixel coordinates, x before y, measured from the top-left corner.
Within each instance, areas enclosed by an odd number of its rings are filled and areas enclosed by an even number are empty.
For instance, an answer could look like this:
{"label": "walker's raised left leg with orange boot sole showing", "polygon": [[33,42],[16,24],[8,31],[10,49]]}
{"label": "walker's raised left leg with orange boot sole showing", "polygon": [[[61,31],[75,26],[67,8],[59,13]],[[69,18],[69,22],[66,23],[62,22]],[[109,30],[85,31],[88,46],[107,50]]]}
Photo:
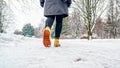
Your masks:
{"label": "walker's raised left leg with orange boot sole showing", "polygon": [[55,16],[49,16],[47,17],[46,23],[45,23],[45,29],[43,33],[43,44],[45,47],[50,47],[51,41],[51,27],[53,25]]}

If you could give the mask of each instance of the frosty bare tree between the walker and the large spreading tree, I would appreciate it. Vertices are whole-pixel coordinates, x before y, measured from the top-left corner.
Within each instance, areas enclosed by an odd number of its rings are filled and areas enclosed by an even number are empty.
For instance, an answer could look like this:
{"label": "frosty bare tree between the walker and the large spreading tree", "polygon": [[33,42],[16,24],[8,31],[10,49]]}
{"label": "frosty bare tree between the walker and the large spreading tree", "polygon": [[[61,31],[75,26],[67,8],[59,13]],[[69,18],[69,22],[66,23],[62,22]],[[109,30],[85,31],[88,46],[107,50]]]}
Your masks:
{"label": "frosty bare tree between the walker and the large spreading tree", "polygon": [[78,10],[74,10],[69,17],[69,31],[73,38],[80,38],[86,31]]}

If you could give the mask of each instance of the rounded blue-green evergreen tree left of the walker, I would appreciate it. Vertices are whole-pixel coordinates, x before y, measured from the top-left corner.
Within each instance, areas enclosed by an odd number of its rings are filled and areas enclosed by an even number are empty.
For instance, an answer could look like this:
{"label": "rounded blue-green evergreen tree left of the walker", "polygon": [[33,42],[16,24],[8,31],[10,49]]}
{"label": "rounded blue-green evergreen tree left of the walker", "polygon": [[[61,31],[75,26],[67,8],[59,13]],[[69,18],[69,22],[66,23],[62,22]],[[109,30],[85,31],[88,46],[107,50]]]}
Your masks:
{"label": "rounded blue-green evergreen tree left of the walker", "polygon": [[22,35],[32,37],[34,35],[34,28],[31,24],[26,24],[22,29]]}

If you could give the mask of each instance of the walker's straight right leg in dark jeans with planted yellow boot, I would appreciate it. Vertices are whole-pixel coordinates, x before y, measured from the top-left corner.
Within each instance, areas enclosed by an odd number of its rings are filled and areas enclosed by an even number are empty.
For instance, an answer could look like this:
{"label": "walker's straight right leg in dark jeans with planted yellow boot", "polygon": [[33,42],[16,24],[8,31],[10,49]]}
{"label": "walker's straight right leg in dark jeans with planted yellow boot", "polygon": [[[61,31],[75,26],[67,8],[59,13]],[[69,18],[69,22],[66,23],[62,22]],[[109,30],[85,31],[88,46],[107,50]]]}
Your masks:
{"label": "walker's straight right leg in dark jeans with planted yellow boot", "polygon": [[62,22],[63,22],[63,16],[62,15],[57,15],[56,16],[56,27],[55,27],[55,41],[54,41],[54,46],[59,47],[59,38],[60,34],[62,31]]}

